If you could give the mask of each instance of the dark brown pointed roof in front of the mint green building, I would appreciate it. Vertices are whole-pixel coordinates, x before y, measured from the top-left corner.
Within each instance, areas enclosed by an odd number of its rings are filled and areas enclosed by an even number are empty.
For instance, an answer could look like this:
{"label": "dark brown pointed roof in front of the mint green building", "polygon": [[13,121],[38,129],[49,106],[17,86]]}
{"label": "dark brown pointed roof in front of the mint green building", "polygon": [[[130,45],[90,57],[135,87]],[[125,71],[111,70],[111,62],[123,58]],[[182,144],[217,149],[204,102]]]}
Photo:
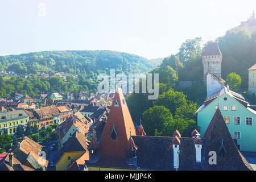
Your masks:
{"label": "dark brown pointed roof in front of the mint green building", "polygon": [[[205,161],[208,162],[208,154],[210,151],[217,152],[217,164],[208,165],[208,168],[211,170],[252,170],[250,164],[243,157],[241,152],[237,149],[236,143],[232,138],[232,135],[229,132],[228,126],[224,121],[224,118],[221,114],[220,109],[217,109],[213,115],[212,121],[210,121],[207,130],[205,131],[203,140],[205,144],[205,152],[203,157]],[[218,149],[221,145],[225,146],[226,156],[224,159],[221,159],[218,154]]]}

